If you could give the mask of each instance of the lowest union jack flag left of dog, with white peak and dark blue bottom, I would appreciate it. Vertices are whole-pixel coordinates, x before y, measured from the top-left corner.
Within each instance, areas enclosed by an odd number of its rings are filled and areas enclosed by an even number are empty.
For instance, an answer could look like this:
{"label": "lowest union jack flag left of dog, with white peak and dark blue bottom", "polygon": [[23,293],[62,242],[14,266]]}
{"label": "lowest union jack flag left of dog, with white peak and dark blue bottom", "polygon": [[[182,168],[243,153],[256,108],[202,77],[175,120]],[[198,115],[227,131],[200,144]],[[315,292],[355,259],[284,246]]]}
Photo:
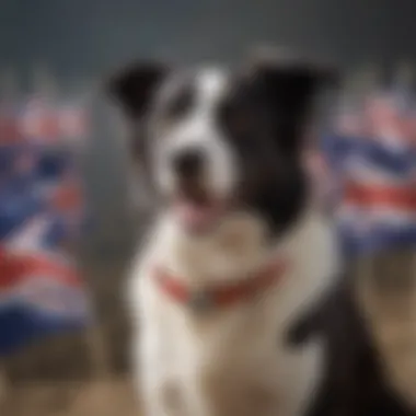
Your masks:
{"label": "lowest union jack flag left of dog, with white peak and dark blue bottom", "polygon": [[50,241],[47,213],[26,219],[0,243],[0,355],[91,319],[77,267]]}

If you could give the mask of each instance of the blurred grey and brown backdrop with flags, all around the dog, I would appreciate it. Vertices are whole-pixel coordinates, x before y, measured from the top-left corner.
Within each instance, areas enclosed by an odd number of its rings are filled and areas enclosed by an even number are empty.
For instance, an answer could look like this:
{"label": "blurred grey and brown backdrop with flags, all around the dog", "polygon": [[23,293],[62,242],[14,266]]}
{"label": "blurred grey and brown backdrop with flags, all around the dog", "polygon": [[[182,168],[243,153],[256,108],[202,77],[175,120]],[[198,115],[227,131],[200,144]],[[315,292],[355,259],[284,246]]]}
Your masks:
{"label": "blurred grey and brown backdrop with flags, all around the dog", "polygon": [[337,63],[314,140],[322,200],[381,288],[374,311],[394,298],[405,315],[382,322],[407,323],[415,13],[413,0],[0,0],[0,414],[135,414],[123,287],[149,209],[101,81],[138,57],[233,63],[266,43]]}

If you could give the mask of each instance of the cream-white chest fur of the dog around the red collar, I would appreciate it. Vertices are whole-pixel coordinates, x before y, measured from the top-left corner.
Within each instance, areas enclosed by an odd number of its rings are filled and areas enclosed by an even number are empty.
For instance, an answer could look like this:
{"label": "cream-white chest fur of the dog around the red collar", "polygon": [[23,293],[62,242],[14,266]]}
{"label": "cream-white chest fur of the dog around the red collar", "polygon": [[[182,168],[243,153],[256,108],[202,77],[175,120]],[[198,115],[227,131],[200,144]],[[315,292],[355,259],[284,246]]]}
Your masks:
{"label": "cream-white chest fur of the dog around the red collar", "polygon": [[149,416],[301,415],[320,380],[320,339],[297,349],[286,344],[289,325],[335,273],[333,236],[317,216],[308,215],[279,247],[290,259],[281,280],[250,302],[198,315],[166,298],[152,279],[153,262],[161,261],[195,287],[219,276],[218,268],[230,279],[255,268],[264,258],[262,233],[249,220],[241,226],[246,242],[236,252],[231,245],[231,254],[224,247],[216,253],[218,241],[176,239],[162,224],[134,269],[129,297],[140,323],[134,370]]}

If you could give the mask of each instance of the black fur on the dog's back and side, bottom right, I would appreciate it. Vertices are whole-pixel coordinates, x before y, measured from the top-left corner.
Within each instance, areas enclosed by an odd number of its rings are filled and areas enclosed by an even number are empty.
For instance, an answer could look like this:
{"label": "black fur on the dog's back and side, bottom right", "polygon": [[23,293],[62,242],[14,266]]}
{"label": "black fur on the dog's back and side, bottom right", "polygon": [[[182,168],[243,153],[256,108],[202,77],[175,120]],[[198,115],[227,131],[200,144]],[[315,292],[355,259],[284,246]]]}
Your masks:
{"label": "black fur on the dog's back and side, bottom right", "polygon": [[317,336],[326,345],[324,379],[307,415],[415,416],[386,383],[350,277],[343,276],[288,334],[292,348]]}

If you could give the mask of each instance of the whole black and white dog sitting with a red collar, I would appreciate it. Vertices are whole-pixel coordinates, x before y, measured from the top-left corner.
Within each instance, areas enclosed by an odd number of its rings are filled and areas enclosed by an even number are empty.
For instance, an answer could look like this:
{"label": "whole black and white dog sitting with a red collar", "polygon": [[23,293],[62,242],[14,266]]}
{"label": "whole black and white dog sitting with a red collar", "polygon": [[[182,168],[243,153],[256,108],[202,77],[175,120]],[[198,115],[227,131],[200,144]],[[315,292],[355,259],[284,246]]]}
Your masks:
{"label": "whole black and white dog sitting with a red collar", "polygon": [[112,79],[160,197],[129,286],[147,415],[406,414],[335,281],[337,244],[304,169],[328,77],[263,59],[139,62]]}

